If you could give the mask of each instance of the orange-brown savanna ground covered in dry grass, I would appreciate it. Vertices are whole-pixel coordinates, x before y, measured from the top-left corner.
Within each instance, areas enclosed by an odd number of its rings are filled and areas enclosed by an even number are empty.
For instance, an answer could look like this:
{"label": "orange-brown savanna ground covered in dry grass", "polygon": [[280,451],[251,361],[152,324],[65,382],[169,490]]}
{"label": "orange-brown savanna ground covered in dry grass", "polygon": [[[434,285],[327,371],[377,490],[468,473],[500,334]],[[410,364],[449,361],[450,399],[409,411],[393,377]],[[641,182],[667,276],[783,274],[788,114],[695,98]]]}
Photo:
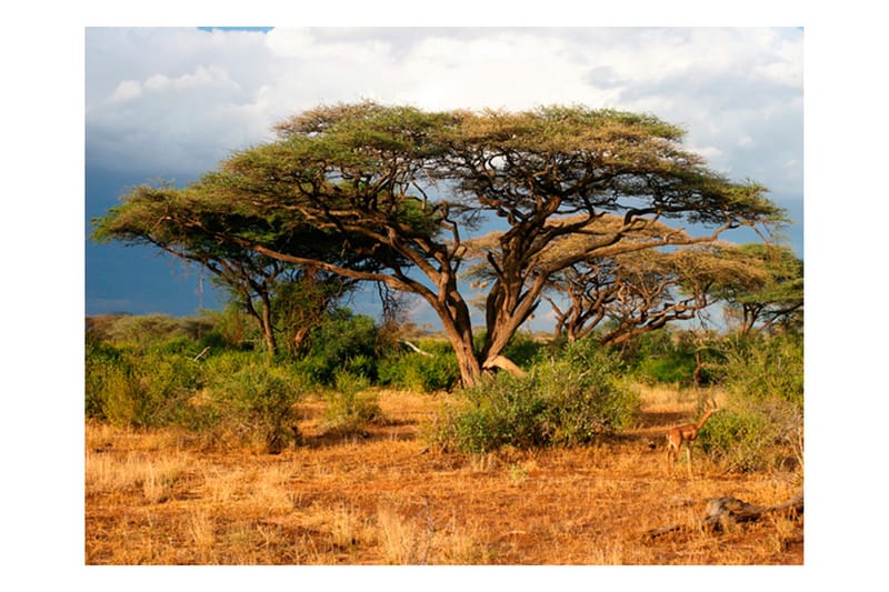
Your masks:
{"label": "orange-brown savanna ground covered in dry grass", "polygon": [[[775,505],[802,475],[730,474],[702,454],[691,478],[685,462],[668,470],[662,433],[696,419],[693,391],[645,389],[639,424],[595,445],[487,455],[427,449],[444,397],[381,391],[387,421],[366,438],[326,433],[323,402],[303,401],[302,444],[276,455],[88,422],[86,563],[803,562],[802,516],[700,525],[709,498]],[[647,536],[671,524],[689,528]]]}

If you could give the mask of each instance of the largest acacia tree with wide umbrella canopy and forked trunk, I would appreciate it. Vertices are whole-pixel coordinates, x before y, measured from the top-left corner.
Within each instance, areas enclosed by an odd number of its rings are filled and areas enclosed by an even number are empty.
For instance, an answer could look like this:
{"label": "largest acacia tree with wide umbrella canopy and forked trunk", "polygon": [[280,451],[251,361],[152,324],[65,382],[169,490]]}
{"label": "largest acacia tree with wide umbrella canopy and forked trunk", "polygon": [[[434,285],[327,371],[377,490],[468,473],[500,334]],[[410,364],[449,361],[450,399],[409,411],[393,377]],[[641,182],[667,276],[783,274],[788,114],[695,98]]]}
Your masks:
{"label": "largest acacia tree with wide umbrella canopy and forked trunk", "polygon": [[[561,270],[605,250],[619,254],[625,242],[626,252],[702,243],[781,220],[765,188],[711,171],[681,148],[681,129],[646,114],[585,107],[424,112],[362,102],[312,109],[276,130],[276,141],[233,154],[188,191],[208,210],[273,220],[294,238],[311,227],[376,267],[346,264],[331,251],[308,255],[237,224],[217,229],[216,239],[421,297],[441,320],[465,384],[509,367],[503,348]],[[589,234],[608,214],[621,222],[582,249],[548,254],[553,241]],[[625,241],[669,219],[708,230]],[[458,280],[470,262],[466,240],[482,224],[502,232],[480,253],[495,279],[477,348]]]}

